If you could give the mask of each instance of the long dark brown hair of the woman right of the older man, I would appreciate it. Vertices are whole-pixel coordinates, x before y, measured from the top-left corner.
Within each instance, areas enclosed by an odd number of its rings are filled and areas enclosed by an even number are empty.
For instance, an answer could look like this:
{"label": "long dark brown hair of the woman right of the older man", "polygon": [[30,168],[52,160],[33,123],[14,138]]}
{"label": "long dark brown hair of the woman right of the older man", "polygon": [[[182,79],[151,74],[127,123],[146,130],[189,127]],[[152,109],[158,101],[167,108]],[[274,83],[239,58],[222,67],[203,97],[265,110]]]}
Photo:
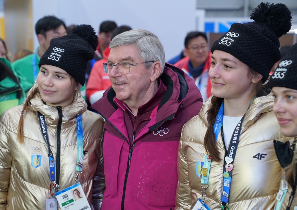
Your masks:
{"label": "long dark brown hair of the woman right of the older man", "polygon": [[[251,68],[249,70],[252,75],[254,76],[257,75],[257,72],[255,72]],[[267,94],[270,93],[269,87],[267,85],[263,85],[264,82],[265,81],[261,80],[257,84],[255,84],[254,90],[256,93],[256,97],[266,96]],[[208,122],[208,125],[210,126],[208,126],[206,134],[204,136],[204,147],[206,150],[208,150],[209,154],[214,159],[214,161],[217,161],[217,162],[220,161],[221,158],[219,157],[219,151],[216,146],[213,126],[223,101],[224,101],[223,98],[219,98],[215,96],[211,98],[211,106],[207,110],[207,122]]]}

